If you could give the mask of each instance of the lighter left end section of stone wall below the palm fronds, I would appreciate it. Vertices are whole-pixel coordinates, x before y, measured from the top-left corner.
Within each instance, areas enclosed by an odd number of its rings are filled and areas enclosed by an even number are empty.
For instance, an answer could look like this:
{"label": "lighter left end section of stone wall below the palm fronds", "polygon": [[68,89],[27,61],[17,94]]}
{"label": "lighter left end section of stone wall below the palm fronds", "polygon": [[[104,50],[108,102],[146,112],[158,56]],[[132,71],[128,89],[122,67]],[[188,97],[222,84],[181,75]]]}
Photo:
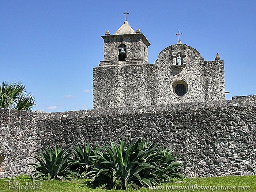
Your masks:
{"label": "lighter left end section of stone wall below the palm fronds", "polygon": [[[36,113],[0,109],[0,177],[26,169],[41,147],[37,135]],[[1,173],[2,172],[2,173]]]}

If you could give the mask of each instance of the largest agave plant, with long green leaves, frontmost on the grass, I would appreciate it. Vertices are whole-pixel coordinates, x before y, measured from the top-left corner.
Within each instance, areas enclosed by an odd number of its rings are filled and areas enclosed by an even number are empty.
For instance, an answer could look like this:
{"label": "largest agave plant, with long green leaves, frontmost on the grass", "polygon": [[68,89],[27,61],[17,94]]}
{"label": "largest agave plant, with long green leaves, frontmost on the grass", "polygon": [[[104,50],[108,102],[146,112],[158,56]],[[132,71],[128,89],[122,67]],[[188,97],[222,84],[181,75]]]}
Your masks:
{"label": "largest agave plant, with long green leaves, frontmost on the grass", "polygon": [[95,160],[95,167],[86,174],[93,176],[91,183],[98,180],[113,186],[121,180],[125,189],[129,188],[131,182],[148,186],[157,184],[153,178],[143,177],[144,171],[154,168],[154,165],[147,163],[147,159],[157,156],[154,154],[158,147],[155,143],[148,146],[148,141],[144,139],[131,141],[129,145],[122,139],[119,147],[113,141],[110,143],[111,146],[104,145],[106,154],[95,151],[97,155],[91,157]]}

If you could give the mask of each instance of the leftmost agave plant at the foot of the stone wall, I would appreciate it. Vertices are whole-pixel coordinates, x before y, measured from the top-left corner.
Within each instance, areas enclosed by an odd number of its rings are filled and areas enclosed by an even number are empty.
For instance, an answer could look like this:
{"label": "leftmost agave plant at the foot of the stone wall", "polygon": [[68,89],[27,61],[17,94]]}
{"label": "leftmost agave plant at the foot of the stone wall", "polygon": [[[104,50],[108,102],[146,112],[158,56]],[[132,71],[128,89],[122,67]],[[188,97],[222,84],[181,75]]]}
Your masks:
{"label": "leftmost agave plant at the foot of the stone wall", "polygon": [[65,178],[68,174],[80,176],[69,169],[76,164],[76,161],[69,160],[72,153],[67,153],[67,151],[68,149],[63,150],[62,147],[58,150],[57,145],[55,145],[55,149],[50,146],[43,147],[41,153],[38,153],[39,157],[34,157],[38,163],[29,164],[34,166],[33,177],[45,176],[50,180]]}

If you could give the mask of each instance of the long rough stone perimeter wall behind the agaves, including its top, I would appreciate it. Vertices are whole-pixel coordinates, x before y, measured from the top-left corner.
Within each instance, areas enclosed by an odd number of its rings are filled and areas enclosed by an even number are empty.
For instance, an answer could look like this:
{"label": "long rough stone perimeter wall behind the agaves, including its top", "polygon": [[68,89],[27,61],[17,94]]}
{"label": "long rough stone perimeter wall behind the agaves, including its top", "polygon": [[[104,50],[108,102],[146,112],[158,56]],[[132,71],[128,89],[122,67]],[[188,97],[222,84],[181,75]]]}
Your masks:
{"label": "long rough stone perimeter wall behind the agaves, including its top", "polygon": [[172,148],[189,177],[256,174],[256,95],[58,113],[0,109],[0,176],[25,169],[42,146],[130,136]]}

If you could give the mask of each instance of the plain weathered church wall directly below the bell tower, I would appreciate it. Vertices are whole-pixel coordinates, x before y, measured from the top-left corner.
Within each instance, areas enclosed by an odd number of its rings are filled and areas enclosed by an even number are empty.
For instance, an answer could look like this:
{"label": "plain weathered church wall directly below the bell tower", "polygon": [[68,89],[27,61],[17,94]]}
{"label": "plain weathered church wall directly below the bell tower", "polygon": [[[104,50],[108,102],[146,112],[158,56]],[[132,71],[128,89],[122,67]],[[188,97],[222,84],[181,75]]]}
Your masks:
{"label": "plain weathered church wall directly below the bell tower", "polygon": [[115,65],[93,69],[93,108],[155,104],[153,65]]}

